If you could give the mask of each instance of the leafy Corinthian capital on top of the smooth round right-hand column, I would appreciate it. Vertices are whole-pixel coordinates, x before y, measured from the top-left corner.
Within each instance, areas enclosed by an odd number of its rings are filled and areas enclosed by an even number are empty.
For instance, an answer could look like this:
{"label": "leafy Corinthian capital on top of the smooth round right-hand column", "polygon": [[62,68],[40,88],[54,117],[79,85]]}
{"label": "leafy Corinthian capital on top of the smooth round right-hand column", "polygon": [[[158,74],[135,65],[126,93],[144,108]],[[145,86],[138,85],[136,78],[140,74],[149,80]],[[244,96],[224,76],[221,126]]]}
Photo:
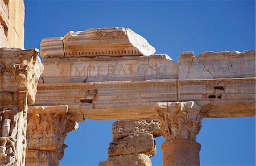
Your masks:
{"label": "leafy Corinthian capital on top of the smooth round right-hand column", "polygon": [[196,140],[201,129],[200,106],[195,102],[156,103],[155,109],[166,141]]}

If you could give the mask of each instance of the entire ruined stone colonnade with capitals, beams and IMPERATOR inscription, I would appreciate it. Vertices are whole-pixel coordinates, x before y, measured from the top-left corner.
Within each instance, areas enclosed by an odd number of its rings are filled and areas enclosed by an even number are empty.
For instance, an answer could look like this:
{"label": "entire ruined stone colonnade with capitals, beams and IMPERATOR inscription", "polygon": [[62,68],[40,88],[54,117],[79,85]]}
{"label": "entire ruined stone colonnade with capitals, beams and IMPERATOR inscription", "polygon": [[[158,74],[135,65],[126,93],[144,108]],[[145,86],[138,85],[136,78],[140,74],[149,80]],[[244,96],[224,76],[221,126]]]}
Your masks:
{"label": "entire ruined stone colonnade with capitals, beams and IMPERATOR inscription", "polygon": [[151,165],[158,136],[163,165],[199,165],[203,118],[255,116],[254,50],[154,53],[129,28],[42,39],[43,64],[36,49],[0,48],[0,165],[58,165],[85,119],[119,119],[101,166]]}

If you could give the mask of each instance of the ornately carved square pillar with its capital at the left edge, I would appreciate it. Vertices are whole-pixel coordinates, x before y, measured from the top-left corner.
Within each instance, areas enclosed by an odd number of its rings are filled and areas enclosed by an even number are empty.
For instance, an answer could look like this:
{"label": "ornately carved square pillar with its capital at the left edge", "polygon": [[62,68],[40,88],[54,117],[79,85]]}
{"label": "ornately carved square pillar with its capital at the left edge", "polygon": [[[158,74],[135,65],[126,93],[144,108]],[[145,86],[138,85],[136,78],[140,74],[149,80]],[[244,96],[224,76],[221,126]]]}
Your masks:
{"label": "ornately carved square pillar with its capital at the left edge", "polygon": [[27,105],[43,68],[36,49],[0,48],[0,165],[25,164]]}

